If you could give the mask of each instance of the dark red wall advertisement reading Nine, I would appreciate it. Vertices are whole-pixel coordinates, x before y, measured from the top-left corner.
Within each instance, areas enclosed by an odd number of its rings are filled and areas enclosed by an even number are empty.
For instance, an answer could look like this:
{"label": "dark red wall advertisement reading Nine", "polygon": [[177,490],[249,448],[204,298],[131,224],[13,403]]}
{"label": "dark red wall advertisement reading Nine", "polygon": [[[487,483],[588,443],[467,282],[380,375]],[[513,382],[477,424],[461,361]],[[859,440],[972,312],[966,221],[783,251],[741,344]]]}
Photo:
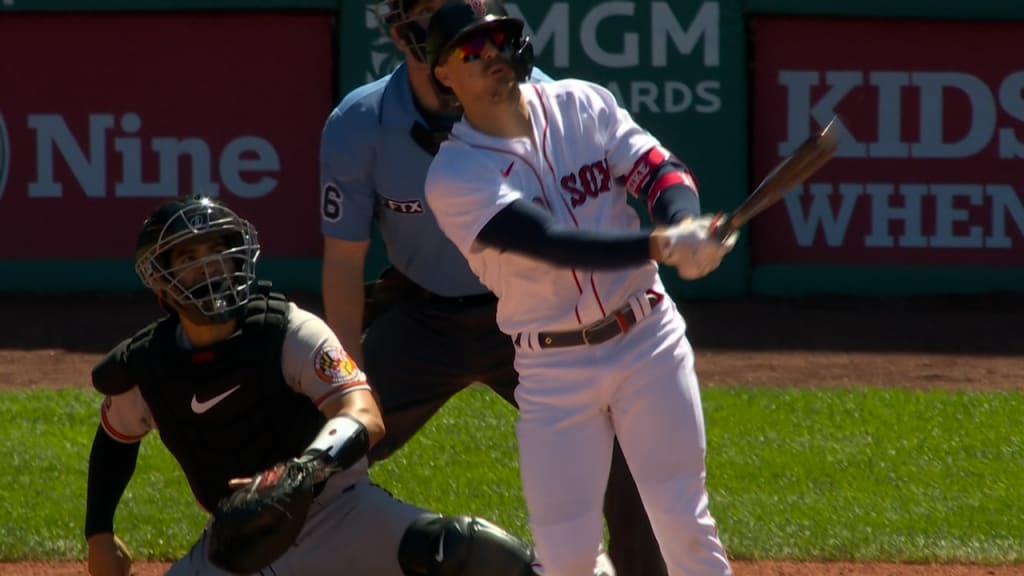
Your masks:
{"label": "dark red wall advertisement reading Nine", "polygon": [[0,258],[130,257],[164,199],[221,198],[319,253],[327,13],[0,18]]}

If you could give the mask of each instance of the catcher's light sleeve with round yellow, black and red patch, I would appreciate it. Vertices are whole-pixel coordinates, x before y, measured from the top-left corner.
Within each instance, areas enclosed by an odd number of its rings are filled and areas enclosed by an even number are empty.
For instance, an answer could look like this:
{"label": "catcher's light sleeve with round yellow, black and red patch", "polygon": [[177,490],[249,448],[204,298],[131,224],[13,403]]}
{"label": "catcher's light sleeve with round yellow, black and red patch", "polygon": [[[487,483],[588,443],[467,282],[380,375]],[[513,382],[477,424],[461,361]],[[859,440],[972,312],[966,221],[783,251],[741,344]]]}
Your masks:
{"label": "catcher's light sleeve with round yellow, black and red patch", "polygon": [[341,347],[327,323],[290,303],[281,369],[288,385],[316,407],[357,389],[370,389],[362,370]]}

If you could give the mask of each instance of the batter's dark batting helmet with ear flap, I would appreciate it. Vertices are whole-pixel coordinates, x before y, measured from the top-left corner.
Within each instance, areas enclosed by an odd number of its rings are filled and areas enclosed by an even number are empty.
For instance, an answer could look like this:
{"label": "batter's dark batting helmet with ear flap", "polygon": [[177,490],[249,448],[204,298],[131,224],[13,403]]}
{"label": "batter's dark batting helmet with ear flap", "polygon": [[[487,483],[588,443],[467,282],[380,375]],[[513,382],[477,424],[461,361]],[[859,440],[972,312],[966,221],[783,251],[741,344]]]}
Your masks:
{"label": "batter's dark batting helmet with ear flap", "polygon": [[474,35],[493,36],[500,31],[504,40],[495,46],[508,58],[516,80],[525,82],[534,70],[534,45],[523,35],[525,23],[512,17],[500,0],[449,0],[430,17],[427,27],[427,66],[430,81],[442,96],[454,97],[451,88],[434,76],[434,69],[452,50]]}

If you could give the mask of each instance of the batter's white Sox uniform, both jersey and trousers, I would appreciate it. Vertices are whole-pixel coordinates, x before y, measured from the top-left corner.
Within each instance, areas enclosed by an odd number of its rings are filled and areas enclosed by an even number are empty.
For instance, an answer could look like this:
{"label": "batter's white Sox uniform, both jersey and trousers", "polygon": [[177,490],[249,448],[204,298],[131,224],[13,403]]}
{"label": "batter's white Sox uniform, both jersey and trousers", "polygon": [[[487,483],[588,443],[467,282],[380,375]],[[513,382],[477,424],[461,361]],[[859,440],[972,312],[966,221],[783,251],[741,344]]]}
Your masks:
{"label": "batter's white Sox uniform, both jersey and trousers", "polygon": [[[579,329],[637,294],[665,293],[653,260],[583,270],[476,241],[499,211],[520,199],[545,207],[556,225],[569,229],[640,225],[617,180],[658,141],[595,84],[562,80],[520,89],[532,138],[493,137],[459,122],[426,181],[427,202],[441,230],[499,296],[498,324],[517,342],[519,333]],[[593,547],[602,537],[614,439],[630,462],[670,576],[731,574],[708,509],[707,444],[692,351],[685,322],[671,303],[641,310],[642,321],[628,333],[592,346],[536,347],[527,335],[516,348],[519,472],[545,574],[590,573]]]}

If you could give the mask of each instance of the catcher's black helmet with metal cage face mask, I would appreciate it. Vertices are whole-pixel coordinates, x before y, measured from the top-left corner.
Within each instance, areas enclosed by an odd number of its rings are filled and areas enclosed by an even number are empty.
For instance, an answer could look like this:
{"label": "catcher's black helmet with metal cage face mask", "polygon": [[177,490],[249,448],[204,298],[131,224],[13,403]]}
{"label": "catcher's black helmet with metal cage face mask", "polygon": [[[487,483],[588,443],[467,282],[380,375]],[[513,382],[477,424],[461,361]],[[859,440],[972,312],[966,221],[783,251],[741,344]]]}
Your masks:
{"label": "catcher's black helmet with metal cage face mask", "polygon": [[[206,241],[217,249],[172,263],[175,248]],[[135,272],[161,303],[196,324],[221,324],[249,301],[258,257],[251,223],[216,200],[194,196],[163,204],[146,218],[135,246]]]}

